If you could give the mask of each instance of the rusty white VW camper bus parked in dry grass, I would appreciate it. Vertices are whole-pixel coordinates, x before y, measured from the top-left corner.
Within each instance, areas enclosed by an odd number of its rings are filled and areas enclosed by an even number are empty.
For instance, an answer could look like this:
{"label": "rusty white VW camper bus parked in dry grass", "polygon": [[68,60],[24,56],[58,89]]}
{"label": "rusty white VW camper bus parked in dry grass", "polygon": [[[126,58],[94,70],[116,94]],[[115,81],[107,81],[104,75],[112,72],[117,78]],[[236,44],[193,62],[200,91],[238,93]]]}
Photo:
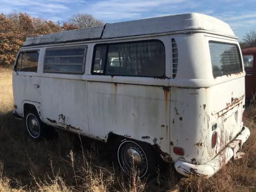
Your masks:
{"label": "rusty white VW camper bus parked in dry grass", "polygon": [[207,178],[250,136],[244,76],[232,29],[203,14],[46,34],[18,51],[14,116],[34,139],[52,126],[112,145],[128,175],[154,175],[161,156]]}

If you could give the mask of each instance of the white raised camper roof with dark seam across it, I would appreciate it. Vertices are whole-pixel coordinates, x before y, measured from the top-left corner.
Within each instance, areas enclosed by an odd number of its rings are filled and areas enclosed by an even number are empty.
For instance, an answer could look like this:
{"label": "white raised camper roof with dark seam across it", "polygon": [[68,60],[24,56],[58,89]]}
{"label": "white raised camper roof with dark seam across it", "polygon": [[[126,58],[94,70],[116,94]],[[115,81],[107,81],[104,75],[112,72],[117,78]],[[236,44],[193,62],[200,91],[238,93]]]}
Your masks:
{"label": "white raised camper roof with dark seam across it", "polygon": [[226,22],[204,14],[188,13],[108,23],[102,26],[38,35],[26,38],[23,46],[160,34],[196,29],[236,38],[234,32]]}

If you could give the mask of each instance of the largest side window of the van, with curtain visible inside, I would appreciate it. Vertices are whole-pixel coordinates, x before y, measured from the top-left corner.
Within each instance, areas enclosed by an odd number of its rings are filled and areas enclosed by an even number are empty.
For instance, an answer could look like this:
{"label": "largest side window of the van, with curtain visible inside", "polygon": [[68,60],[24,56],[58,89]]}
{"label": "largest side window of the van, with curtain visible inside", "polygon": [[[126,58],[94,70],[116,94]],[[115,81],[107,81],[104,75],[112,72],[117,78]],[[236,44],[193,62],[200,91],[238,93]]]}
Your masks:
{"label": "largest side window of the van, with curtain visible inside", "polygon": [[165,48],[158,40],[96,45],[92,74],[162,77]]}

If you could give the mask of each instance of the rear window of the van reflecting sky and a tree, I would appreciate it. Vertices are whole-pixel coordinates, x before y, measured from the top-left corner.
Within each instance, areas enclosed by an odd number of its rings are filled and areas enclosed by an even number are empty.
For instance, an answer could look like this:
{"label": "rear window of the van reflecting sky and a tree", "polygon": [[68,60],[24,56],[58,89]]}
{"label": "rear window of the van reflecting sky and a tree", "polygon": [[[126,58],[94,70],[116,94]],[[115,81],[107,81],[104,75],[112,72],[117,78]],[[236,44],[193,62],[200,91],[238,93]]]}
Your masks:
{"label": "rear window of the van reflecting sky and a tree", "polygon": [[209,42],[214,77],[242,71],[242,62],[238,46],[220,42]]}

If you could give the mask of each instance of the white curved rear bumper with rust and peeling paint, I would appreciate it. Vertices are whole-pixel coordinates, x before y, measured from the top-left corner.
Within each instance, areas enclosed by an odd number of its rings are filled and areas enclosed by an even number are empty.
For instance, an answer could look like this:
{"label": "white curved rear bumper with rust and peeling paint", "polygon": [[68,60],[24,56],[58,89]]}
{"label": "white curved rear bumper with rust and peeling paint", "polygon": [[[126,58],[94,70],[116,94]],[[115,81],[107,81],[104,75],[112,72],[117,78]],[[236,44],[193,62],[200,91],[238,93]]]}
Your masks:
{"label": "white curved rear bumper with rust and peeling paint", "polygon": [[[237,148],[241,148],[249,136],[250,130],[244,126],[242,132],[240,132],[240,134],[210,162],[203,165],[194,165],[178,160],[174,164],[175,169],[178,173],[184,176],[195,175],[209,178],[216,174],[216,172],[218,172],[222,166],[224,166],[224,164],[227,164],[232,157],[239,155],[237,154]],[[238,144],[238,141],[240,144]]]}

